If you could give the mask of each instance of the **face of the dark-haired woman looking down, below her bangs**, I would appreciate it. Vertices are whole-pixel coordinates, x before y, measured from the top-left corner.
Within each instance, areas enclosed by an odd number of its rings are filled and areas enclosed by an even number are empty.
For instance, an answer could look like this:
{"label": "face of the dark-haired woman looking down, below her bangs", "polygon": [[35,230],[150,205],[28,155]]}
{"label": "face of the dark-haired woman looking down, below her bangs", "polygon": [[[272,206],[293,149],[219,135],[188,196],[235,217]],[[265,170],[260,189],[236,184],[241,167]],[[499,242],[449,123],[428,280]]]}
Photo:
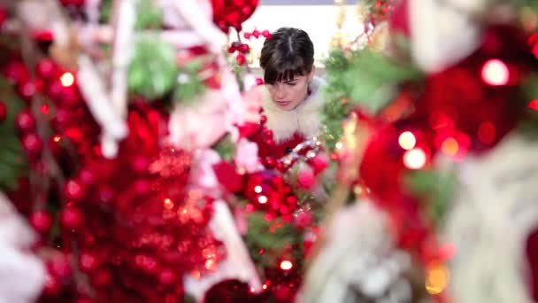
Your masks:
{"label": "face of the dark-haired woman looking down, below her bangs", "polygon": [[308,96],[308,82],[314,74],[314,70],[308,75],[298,75],[289,81],[267,84],[273,102],[281,110],[291,111],[301,104]]}

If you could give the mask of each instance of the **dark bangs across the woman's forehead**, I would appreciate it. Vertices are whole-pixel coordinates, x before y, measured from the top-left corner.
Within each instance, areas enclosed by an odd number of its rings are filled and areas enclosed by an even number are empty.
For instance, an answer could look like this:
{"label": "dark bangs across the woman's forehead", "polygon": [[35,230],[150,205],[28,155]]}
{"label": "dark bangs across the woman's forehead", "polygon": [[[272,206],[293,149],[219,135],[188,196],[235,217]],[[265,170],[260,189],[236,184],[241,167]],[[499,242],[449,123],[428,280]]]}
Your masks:
{"label": "dark bangs across the woman's forehead", "polygon": [[302,76],[311,72],[311,66],[305,64],[299,56],[294,58],[278,58],[273,56],[265,62],[264,82],[274,84],[276,82],[288,82],[296,76]]}

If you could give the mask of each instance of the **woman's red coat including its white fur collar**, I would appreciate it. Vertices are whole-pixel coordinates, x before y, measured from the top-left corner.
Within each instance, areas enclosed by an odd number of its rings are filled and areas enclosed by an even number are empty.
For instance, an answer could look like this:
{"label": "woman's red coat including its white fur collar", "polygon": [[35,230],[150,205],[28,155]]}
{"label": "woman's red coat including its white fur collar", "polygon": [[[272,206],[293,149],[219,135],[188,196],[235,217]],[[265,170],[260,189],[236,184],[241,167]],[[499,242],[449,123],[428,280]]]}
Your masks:
{"label": "woman's red coat including its white fur collar", "polygon": [[[270,140],[260,123],[258,131],[250,136],[250,140],[258,145],[258,155],[263,160],[267,157],[281,159],[311,136],[318,136],[321,128],[319,114],[325,101],[322,97],[320,78],[313,78],[309,90],[310,95],[292,111],[283,111],[273,103],[267,89],[262,89],[262,107],[266,117],[265,128],[273,134]],[[273,141],[271,143],[270,141]]]}

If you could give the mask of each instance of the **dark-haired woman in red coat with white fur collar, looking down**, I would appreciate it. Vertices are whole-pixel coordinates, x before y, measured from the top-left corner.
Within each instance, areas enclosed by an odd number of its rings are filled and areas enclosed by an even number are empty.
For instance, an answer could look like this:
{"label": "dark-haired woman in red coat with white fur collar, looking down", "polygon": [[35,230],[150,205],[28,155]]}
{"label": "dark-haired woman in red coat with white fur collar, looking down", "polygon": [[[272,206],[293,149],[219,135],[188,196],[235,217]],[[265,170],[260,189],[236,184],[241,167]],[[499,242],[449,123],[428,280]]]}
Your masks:
{"label": "dark-haired woman in red coat with white fur collar, looking down", "polygon": [[322,79],[315,77],[314,46],[304,30],[281,27],[265,40],[260,66],[265,88],[264,127],[253,138],[261,159],[281,159],[297,144],[319,135]]}

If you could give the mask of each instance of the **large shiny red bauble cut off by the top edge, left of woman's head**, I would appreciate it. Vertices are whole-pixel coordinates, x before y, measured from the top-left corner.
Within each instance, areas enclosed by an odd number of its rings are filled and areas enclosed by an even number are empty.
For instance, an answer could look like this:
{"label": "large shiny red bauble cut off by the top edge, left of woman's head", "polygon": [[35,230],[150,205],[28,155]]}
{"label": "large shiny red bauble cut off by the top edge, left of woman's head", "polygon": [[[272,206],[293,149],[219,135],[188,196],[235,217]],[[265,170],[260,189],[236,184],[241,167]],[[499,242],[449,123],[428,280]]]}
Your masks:
{"label": "large shiny red bauble cut off by the top edge, left of woman's head", "polygon": [[230,27],[241,31],[242,23],[256,10],[258,0],[211,0],[213,22],[227,33]]}

